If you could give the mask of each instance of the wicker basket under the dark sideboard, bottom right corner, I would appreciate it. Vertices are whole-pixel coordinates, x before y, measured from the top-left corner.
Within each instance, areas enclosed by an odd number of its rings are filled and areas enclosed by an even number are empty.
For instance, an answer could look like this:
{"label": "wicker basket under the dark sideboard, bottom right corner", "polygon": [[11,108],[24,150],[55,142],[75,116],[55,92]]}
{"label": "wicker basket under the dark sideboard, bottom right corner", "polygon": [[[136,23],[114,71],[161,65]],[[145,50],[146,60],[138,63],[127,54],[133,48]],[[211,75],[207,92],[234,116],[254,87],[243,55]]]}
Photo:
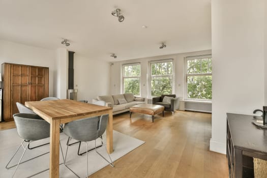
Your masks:
{"label": "wicker basket under the dark sideboard, bottom right corner", "polygon": [[253,158],[254,163],[254,177],[266,178],[267,177],[267,161]]}

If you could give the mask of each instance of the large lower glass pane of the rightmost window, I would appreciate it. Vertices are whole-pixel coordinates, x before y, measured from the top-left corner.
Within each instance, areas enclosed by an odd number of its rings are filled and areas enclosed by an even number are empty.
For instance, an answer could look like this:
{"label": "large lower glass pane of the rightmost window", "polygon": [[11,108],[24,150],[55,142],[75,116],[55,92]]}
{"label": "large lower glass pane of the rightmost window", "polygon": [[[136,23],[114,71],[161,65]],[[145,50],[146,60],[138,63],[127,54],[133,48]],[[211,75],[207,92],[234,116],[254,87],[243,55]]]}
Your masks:
{"label": "large lower glass pane of the rightmost window", "polygon": [[187,77],[187,97],[212,99],[212,76]]}

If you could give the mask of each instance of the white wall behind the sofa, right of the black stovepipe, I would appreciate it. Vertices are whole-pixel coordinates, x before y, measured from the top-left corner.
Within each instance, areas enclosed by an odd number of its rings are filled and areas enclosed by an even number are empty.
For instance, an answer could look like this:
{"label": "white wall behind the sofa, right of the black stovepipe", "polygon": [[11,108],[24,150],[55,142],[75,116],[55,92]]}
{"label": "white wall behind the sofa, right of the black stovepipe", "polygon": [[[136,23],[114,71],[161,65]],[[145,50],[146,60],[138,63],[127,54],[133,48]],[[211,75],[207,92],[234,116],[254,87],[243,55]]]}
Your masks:
{"label": "white wall behind the sofa, right of the black stovepipe", "polygon": [[109,94],[108,62],[90,60],[74,53],[74,88],[78,89],[78,100],[88,100]]}

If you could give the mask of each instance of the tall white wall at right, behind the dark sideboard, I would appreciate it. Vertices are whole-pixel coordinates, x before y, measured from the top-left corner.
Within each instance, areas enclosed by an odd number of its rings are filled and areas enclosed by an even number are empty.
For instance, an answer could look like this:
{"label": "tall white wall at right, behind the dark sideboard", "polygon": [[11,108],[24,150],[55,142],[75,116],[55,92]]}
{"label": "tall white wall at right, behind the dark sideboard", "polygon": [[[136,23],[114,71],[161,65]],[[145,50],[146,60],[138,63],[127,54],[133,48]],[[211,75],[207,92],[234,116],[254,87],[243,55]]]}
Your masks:
{"label": "tall white wall at right, behind the dark sideboard", "polygon": [[212,1],[212,151],[226,153],[226,112],[252,114],[264,104],[263,3]]}

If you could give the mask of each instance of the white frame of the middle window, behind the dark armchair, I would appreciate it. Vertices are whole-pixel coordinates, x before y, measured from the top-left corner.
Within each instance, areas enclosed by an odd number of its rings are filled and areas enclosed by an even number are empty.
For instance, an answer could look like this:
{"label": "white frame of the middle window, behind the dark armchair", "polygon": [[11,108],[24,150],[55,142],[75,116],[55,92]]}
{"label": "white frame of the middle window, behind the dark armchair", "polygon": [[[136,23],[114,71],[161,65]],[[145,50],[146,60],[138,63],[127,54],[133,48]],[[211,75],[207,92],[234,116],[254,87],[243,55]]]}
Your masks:
{"label": "white frame of the middle window, behind the dark armchair", "polygon": [[[166,74],[166,75],[152,75],[152,64],[156,64],[156,63],[167,63],[167,62],[171,62],[172,63],[172,74]],[[148,87],[148,94],[149,94],[149,98],[153,98],[153,97],[158,97],[158,96],[152,96],[152,85],[151,85],[151,82],[152,82],[152,78],[154,78],[155,76],[156,77],[166,77],[166,76],[170,76],[171,77],[171,91],[172,91],[172,94],[174,93],[174,60],[173,58],[167,58],[167,59],[164,59],[164,60],[156,60],[156,61],[150,61],[149,62],[149,87]]]}

